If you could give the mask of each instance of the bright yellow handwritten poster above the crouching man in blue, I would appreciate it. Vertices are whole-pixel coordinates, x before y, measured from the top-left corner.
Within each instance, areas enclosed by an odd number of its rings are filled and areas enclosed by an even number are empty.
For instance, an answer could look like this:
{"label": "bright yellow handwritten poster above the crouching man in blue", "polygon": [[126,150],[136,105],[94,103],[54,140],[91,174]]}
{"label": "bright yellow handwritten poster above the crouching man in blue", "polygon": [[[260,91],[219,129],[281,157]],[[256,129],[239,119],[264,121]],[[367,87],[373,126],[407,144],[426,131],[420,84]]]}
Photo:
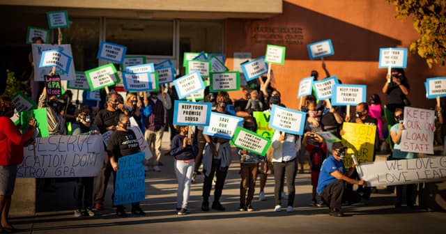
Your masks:
{"label": "bright yellow handwritten poster above the crouching man in blue", "polygon": [[353,164],[351,155],[355,155],[358,162],[373,162],[376,126],[359,123],[346,123],[342,125],[342,145],[347,147],[344,165],[350,167]]}

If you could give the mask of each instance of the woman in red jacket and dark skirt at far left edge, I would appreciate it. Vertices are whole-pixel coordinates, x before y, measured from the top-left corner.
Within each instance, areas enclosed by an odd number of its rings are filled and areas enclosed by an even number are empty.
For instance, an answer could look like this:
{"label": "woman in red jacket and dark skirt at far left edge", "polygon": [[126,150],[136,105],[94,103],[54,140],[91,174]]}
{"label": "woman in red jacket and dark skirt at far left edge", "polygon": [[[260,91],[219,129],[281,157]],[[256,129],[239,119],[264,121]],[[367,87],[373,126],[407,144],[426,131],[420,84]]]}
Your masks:
{"label": "woman in red jacket and dark skirt at far left edge", "polygon": [[11,195],[13,195],[17,165],[23,161],[23,147],[33,137],[36,122],[31,119],[29,128],[21,134],[10,117],[14,107],[10,100],[0,97],[0,233],[17,231],[8,221]]}

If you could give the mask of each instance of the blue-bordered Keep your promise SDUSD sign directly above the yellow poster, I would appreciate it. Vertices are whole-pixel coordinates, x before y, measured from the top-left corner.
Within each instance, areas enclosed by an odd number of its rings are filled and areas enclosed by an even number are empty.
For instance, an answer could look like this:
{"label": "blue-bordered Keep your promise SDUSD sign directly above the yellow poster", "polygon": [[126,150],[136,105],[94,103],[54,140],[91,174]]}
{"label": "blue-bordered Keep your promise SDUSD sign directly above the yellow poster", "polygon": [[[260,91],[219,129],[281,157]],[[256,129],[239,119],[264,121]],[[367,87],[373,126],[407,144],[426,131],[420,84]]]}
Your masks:
{"label": "blue-bordered Keep your promise SDUSD sign directly above the yellow poster", "polygon": [[366,102],[365,85],[335,84],[332,91],[332,106],[356,106],[360,102]]}

